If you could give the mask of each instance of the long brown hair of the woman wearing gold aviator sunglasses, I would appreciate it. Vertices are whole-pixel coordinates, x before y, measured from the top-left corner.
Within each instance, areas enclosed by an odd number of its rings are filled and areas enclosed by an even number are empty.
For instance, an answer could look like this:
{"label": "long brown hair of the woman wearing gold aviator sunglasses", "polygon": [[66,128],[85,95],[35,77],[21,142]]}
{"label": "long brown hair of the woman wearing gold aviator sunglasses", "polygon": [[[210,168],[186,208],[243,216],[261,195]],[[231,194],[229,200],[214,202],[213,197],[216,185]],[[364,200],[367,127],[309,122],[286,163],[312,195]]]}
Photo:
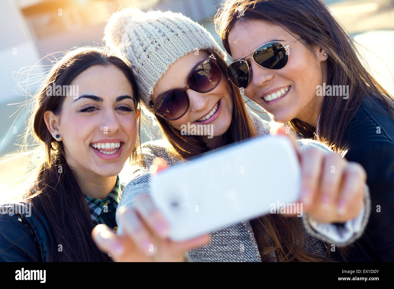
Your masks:
{"label": "long brown hair of the woman wearing gold aviator sunglasses", "polygon": [[[215,17],[216,31],[231,55],[229,32],[238,21],[264,20],[281,26],[312,51],[320,46],[329,55],[327,59],[327,85],[348,85],[349,98],[326,97],[320,108],[316,129],[299,119],[287,123],[304,138],[315,138],[334,151],[342,152],[346,128],[364,98],[374,95],[394,117],[394,98],[372,77],[362,65],[353,40],[331,15],[320,0],[229,0],[223,2]],[[298,37],[297,37],[298,38]],[[359,56],[360,59],[357,57]],[[338,125],[340,124],[340,125]]]}

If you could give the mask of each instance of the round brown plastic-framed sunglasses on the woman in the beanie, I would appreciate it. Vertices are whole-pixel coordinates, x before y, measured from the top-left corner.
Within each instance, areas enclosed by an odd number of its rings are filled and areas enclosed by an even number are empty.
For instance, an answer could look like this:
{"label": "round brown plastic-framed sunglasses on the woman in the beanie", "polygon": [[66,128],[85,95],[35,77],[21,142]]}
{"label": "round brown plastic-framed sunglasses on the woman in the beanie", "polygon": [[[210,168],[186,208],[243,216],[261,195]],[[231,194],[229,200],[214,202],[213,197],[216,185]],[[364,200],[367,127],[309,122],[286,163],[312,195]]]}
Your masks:
{"label": "round brown plastic-framed sunglasses on the woman in the beanie", "polygon": [[159,94],[156,102],[149,101],[154,113],[166,120],[177,120],[189,109],[189,97],[186,90],[191,88],[197,92],[205,93],[213,90],[221,79],[221,71],[212,54],[198,63],[188,76],[184,88],[175,88],[164,95]]}

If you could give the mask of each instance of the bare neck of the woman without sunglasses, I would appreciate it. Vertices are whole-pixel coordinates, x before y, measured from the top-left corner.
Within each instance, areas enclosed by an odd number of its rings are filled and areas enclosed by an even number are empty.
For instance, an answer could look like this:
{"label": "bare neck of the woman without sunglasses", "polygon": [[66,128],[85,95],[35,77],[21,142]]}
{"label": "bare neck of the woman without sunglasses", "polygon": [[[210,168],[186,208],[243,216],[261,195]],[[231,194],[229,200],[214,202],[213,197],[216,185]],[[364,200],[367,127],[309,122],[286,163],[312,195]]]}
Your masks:
{"label": "bare neck of the woman without sunglasses", "polygon": [[105,199],[115,187],[117,176],[103,177],[93,172],[86,173],[78,169],[73,170],[82,193],[88,197]]}

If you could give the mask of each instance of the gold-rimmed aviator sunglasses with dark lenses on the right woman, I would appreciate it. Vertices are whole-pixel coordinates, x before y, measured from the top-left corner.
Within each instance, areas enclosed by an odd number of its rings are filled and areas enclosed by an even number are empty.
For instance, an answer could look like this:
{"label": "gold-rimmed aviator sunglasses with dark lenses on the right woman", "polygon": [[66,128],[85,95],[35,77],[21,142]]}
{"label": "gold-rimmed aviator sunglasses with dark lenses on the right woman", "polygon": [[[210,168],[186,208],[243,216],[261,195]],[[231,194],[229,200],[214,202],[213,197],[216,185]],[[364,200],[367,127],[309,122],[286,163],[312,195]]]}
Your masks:
{"label": "gold-rimmed aviator sunglasses with dark lenses on the right woman", "polygon": [[[289,62],[290,50],[288,48],[298,40],[299,39],[287,46],[284,46],[278,41],[268,42],[254,50],[252,56],[249,56],[246,59],[251,57],[255,63],[267,69],[279,70],[285,68]],[[249,52],[246,55],[249,55],[250,53],[252,52]],[[249,64],[246,62],[246,59],[238,59],[230,63],[226,71],[229,80],[238,88],[246,88],[249,84],[249,79],[252,76],[252,71]]]}

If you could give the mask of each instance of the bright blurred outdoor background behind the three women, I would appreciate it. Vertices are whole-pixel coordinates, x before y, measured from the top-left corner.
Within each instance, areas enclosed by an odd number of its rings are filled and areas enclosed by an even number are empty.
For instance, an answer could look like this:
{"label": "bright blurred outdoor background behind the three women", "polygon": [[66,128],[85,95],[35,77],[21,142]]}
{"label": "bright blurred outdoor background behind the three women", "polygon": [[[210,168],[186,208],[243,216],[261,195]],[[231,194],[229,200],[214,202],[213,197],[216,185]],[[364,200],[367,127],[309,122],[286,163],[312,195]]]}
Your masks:
{"label": "bright blurred outdoor background behind the three women", "polygon": [[[348,33],[364,46],[360,49],[365,53],[375,77],[394,93],[390,74],[390,68],[394,67],[394,0],[324,2]],[[215,6],[220,3],[221,0],[2,0],[0,157],[18,149],[18,139],[29,116],[26,110],[18,109],[26,94],[35,92],[39,85],[37,81],[48,70],[51,60],[61,57],[62,52],[74,46],[102,45],[106,19],[110,15],[130,6],[143,11],[181,12],[202,24],[221,44],[213,24]],[[379,42],[385,45],[376,45]],[[32,66],[34,69],[29,70]],[[147,138],[143,136],[143,140]],[[0,184],[15,174],[9,166],[0,167]]]}

